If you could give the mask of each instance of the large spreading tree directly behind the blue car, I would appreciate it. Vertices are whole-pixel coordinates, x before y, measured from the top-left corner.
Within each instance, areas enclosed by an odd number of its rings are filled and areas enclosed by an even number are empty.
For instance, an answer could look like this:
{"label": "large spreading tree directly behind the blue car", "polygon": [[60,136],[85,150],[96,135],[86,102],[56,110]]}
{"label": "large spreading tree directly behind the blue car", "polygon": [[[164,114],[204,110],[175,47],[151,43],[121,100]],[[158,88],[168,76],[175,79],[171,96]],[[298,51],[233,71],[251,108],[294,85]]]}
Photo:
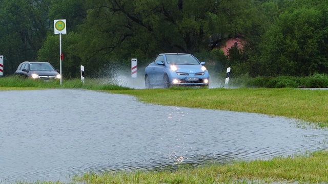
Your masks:
{"label": "large spreading tree directly behind the blue car", "polygon": [[161,52],[208,51],[224,37],[250,34],[256,22],[253,0],[97,0],[87,1],[81,26],[80,58],[101,67]]}

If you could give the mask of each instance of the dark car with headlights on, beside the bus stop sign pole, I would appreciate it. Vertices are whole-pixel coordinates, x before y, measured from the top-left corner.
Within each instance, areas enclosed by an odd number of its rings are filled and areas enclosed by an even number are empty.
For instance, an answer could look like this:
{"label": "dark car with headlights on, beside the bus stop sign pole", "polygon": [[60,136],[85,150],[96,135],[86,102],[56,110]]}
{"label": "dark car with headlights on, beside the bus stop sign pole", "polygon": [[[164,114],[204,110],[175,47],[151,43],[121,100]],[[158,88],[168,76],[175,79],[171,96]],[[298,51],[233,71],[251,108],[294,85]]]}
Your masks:
{"label": "dark car with headlights on, beside the bus stop sign pole", "polygon": [[49,62],[24,61],[19,64],[16,75],[32,79],[60,79],[59,70]]}

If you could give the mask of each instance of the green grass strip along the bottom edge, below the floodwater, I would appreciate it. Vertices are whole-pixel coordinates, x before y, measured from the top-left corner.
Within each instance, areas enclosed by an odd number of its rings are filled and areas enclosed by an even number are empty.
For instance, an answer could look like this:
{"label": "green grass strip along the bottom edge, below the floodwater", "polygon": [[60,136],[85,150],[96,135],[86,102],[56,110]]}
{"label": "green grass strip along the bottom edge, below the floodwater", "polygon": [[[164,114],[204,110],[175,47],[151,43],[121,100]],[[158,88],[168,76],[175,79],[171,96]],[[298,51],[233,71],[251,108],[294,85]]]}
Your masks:
{"label": "green grass strip along the bottom edge, below the floodwater", "polygon": [[328,182],[328,152],[184,168],[174,172],[105,172],[76,177],[83,183],[322,183]]}

